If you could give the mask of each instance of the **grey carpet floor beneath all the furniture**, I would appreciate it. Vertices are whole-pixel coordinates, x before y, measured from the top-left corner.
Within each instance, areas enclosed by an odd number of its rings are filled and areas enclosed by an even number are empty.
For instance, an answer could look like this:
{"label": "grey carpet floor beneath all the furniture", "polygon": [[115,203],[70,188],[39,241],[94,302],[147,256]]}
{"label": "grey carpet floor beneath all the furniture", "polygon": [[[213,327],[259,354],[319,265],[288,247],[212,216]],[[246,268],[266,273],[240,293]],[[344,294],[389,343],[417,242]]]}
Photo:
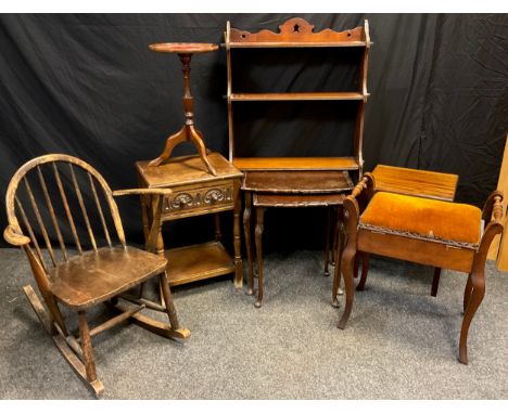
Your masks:
{"label": "grey carpet floor beneath all the furniture", "polygon": [[[508,274],[487,266],[487,292],[457,361],[466,275],[371,260],[345,331],[330,306],[322,254],[265,258],[262,309],[231,277],[174,289],[183,345],[138,326],[94,338],[104,399],[507,399]],[[0,249],[0,398],[93,399],[22,293],[22,251]],[[75,324],[74,320],[71,320]]]}

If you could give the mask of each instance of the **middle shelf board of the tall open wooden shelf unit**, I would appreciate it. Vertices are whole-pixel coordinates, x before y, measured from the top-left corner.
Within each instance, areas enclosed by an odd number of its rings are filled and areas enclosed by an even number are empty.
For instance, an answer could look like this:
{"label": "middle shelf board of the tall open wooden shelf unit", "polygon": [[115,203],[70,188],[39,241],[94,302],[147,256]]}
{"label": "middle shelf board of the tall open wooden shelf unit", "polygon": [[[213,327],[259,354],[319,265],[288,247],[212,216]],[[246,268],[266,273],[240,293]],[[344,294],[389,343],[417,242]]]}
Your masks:
{"label": "middle shelf board of the tall open wooden shelf unit", "polygon": [[231,93],[231,101],[363,101],[359,92]]}

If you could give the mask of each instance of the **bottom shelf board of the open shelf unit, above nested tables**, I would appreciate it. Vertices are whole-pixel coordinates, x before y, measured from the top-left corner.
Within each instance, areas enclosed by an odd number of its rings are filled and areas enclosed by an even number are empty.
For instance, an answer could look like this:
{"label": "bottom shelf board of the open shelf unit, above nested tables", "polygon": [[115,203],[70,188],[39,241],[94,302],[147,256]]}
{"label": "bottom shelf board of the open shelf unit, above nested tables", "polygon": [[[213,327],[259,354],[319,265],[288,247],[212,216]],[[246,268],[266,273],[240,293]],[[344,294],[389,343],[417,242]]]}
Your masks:
{"label": "bottom shelf board of the open shelf unit, above nested tables", "polygon": [[256,157],[233,158],[234,167],[240,170],[357,170],[354,157]]}

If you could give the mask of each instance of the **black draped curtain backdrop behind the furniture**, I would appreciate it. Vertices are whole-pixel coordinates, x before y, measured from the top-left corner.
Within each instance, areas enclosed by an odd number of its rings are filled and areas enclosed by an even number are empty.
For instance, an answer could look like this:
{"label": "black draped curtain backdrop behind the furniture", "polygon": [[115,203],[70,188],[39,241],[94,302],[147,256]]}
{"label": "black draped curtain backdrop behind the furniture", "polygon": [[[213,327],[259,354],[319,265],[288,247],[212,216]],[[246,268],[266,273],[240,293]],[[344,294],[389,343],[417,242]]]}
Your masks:
{"label": "black draped curtain backdrop behind the furniture", "polygon": [[[23,163],[47,153],[87,160],[113,189],[136,186],[135,161],[158,155],[165,138],[183,120],[179,61],[153,53],[147,46],[160,41],[220,43],[227,21],[251,31],[277,30],[293,16],[296,14],[1,15],[0,193],[5,193]],[[508,16],[297,16],[314,24],[315,30],[342,30],[369,20],[374,44],[364,133],[366,170],[390,164],[454,172],[460,177],[457,200],[481,206],[496,186],[508,130]],[[316,53],[306,60],[289,56],[283,76],[270,65],[269,55],[240,62],[251,66],[253,76],[261,74],[262,80],[264,67],[267,75],[275,70],[276,80],[269,83],[266,76],[267,86],[297,86],[300,79],[312,90],[351,81],[352,69],[342,57],[334,62],[332,55]],[[338,78],[342,73],[345,75]],[[196,126],[209,148],[227,155],[225,50],[194,56],[191,78]],[[333,113],[319,111],[317,105],[288,113],[282,108],[263,111],[251,108],[247,115],[266,116],[241,124],[262,132],[263,139],[249,142],[250,151],[299,155],[350,151],[350,129],[342,122],[347,118],[345,109]],[[333,114],[336,127],[329,122]],[[277,137],[266,138],[274,126],[278,126]],[[305,139],[300,135],[292,141],[295,131],[305,131]],[[182,145],[175,155],[189,151]],[[138,199],[122,199],[119,207],[128,238],[140,243]],[[224,234],[230,234],[230,216],[224,215]],[[325,217],[325,211],[314,209],[270,210],[267,248],[321,248]],[[213,234],[212,223],[206,217],[172,223],[166,228],[166,244],[206,240]],[[2,203],[0,225],[5,224]]]}

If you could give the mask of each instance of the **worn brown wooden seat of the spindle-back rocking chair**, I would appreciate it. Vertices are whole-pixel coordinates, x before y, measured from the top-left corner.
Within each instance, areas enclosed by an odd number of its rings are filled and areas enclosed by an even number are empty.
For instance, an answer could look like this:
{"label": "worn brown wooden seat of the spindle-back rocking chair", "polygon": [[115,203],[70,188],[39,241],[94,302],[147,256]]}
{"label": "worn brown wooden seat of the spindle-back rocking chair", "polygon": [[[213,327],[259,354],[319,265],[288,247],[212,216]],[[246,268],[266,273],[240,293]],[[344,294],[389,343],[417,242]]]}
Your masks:
{"label": "worn brown wooden seat of the spindle-back rocking chair", "polygon": [[86,309],[163,272],[164,257],[135,247],[102,247],[49,271],[50,289],[61,302]]}

